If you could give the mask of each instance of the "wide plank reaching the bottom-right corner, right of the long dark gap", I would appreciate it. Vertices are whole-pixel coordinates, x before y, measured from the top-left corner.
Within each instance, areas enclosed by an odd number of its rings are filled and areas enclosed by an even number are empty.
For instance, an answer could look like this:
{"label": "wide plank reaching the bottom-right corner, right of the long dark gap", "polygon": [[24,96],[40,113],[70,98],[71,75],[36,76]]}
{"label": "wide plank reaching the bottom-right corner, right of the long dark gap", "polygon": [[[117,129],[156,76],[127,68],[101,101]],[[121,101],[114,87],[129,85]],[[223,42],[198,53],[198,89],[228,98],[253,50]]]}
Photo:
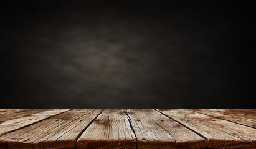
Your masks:
{"label": "wide plank reaching the bottom-right corner, right of the long dark gap", "polygon": [[[220,147],[220,145],[225,145],[225,148],[255,148],[256,129],[254,128],[200,114],[188,109],[160,111],[163,111],[164,114],[169,115],[173,119],[183,121],[183,123],[190,125],[189,128],[204,135],[209,140],[209,147],[216,148]],[[194,123],[200,125],[191,125]],[[210,137],[209,135],[215,137]],[[224,140],[226,141],[223,142]]]}

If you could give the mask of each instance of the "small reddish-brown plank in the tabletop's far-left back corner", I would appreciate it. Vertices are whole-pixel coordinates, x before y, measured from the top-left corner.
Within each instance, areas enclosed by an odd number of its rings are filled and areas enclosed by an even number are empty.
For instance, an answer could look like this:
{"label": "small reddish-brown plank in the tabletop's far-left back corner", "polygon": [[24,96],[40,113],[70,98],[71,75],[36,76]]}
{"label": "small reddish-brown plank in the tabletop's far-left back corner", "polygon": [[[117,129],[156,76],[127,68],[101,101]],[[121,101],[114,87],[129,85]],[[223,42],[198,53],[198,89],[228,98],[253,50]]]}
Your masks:
{"label": "small reddish-brown plank in the tabletop's far-left back corner", "polygon": [[31,116],[31,114],[36,114],[47,110],[49,109],[0,109],[0,123],[7,120]]}

